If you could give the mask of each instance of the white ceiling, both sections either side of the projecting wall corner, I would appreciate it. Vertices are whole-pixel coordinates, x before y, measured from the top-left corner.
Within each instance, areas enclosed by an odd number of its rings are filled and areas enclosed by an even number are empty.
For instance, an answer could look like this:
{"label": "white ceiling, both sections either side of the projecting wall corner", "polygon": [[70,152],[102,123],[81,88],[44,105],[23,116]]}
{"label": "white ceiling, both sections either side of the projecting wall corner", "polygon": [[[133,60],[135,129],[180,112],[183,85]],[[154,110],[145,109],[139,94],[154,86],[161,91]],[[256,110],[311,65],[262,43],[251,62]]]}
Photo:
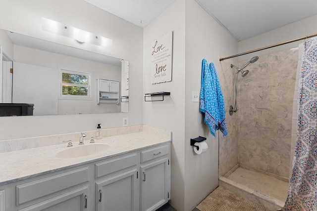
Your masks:
{"label": "white ceiling, both sections either side of the projecting wall corner", "polygon": [[[145,27],[174,0],[86,0]],[[196,0],[237,40],[317,14],[317,0]]]}

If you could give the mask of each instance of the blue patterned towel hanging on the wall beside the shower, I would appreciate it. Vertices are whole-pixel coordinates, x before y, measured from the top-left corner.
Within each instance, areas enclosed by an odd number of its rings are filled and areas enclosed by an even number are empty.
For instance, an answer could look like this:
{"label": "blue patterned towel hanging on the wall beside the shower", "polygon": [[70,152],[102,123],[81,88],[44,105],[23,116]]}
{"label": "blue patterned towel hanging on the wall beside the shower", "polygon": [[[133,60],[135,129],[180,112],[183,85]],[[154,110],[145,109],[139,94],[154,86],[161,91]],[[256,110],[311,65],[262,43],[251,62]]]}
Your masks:
{"label": "blue patterned towel hanging on the wall beside the shower", "polygon": [[218,76],[213,63],[208,65],[206,59],[202,62],[200,111],[205,114],[204,122],[213,136],[217,129],[223,133],[223,136],[228,134],[224,99]]}

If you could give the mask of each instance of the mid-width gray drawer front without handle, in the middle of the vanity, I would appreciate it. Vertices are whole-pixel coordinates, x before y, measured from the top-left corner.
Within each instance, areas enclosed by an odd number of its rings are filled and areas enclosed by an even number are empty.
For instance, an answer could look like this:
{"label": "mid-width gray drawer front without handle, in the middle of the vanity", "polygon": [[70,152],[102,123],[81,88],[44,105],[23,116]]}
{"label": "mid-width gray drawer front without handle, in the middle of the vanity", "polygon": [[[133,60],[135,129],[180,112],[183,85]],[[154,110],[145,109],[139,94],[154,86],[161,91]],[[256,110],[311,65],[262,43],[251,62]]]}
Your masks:
{"label": "mid-width gray drawer front without handle, in the middle of the vanity", "polygon": [[137,165],[137,154],[111,159],[102,163],[95,164],[95,178],[105,176],[122,169],[127,169]]}

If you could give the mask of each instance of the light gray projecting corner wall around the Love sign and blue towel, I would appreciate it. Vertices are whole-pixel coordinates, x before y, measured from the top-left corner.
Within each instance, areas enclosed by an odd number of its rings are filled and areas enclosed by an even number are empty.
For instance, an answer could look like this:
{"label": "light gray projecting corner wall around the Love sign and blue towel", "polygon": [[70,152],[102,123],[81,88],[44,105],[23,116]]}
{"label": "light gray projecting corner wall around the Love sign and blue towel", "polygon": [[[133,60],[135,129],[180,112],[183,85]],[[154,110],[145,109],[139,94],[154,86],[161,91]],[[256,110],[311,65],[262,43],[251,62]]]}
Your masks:
{"label": "light gray projecting corner wall around the Love sign and blue towel", "polygon": [[[172,81],[151,84],[151,43],[169,31],[173,31]],[[218,133],[213,137],[203,123],[192,91],[200,91],[203,58],[215,64],[221,85],[232,90],[219,67],[219,50],[234,54],[237,41],[193,0],[175,0],[144,29],[143,91],[171,92],[164,101],[143,103],[144,124],[173,133],[170,203],[178,211],[191,211],[218,185]],[[190,146],[190,138],[199,135],[207,137],[209,146],[201,155]]]}

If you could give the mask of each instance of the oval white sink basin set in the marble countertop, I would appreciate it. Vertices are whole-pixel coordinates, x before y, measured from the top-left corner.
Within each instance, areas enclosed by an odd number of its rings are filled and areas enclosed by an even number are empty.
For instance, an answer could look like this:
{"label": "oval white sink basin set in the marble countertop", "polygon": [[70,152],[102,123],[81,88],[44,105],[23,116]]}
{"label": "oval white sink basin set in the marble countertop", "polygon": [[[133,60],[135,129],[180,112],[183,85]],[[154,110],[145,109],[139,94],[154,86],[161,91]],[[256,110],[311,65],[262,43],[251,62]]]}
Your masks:
{"label": "oval white sink basin set in the marble countertop", "polygon": [[109,149],[107,144],[88,143],[81,146],[69,147],[56,154],[56,158],[78,158],[104,152]]}

